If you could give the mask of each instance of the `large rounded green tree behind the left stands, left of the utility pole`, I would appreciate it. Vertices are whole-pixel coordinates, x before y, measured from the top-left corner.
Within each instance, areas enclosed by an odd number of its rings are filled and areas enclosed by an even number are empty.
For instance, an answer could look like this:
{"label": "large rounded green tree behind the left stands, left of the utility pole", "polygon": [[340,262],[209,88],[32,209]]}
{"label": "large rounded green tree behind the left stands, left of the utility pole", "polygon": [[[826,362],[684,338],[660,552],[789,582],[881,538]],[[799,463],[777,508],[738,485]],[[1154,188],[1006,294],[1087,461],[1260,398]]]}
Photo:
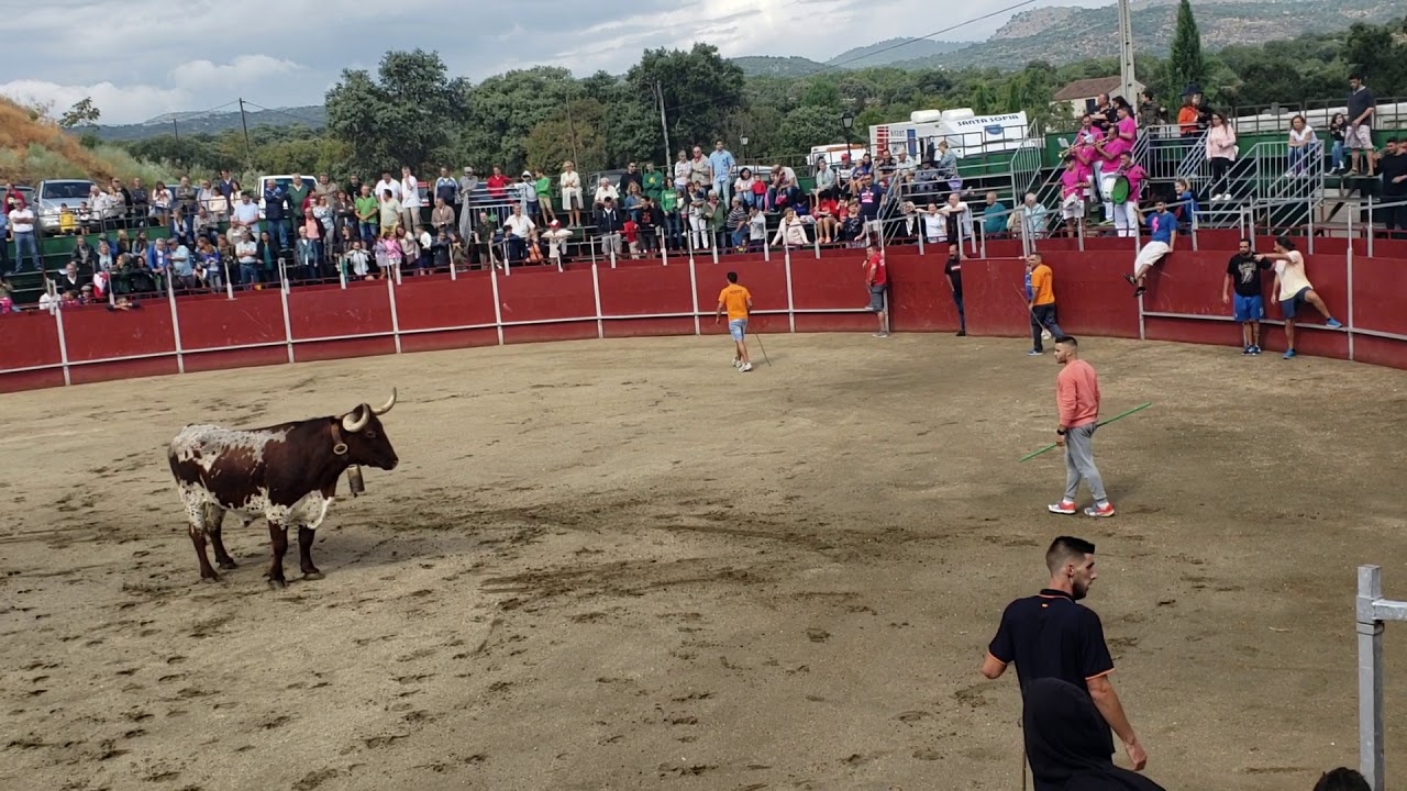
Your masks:
{"label": "large rounded green tree behind the left stands, left of the utility pole", "polygon": [[450,79],[439,53],[387,52],[377,80],[343,70],[326,94],[328,131],[350,146],[364,173],[397,165],[422,167],[445,155],[452,129],[464,120],[463,77]]}

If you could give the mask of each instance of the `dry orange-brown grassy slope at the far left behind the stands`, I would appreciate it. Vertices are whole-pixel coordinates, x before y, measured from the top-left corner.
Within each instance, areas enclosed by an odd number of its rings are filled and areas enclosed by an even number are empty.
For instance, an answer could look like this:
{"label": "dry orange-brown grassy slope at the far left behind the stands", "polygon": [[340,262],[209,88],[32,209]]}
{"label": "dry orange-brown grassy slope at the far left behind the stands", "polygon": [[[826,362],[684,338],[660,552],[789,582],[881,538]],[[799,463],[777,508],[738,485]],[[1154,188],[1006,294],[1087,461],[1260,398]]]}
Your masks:
{"label": "dry orange-brown grassy slope at the far left behind the stands", "polygon": [[155,180],[162,167],[113,145],[86,148],[58,124],[31,117],[28,108],[0,97],[0,179],[35,184],[44,179],[106,180],[141,176]]}

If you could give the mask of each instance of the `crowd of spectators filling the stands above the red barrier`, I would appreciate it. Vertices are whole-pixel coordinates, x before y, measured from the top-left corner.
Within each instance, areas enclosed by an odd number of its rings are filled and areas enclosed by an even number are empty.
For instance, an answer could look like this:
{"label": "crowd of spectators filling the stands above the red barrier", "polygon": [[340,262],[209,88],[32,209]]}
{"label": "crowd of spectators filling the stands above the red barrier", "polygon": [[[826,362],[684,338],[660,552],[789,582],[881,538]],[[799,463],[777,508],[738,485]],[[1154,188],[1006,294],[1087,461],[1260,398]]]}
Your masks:
{"label": "crowd of spectators filling the stands above the red barrier", "polygon": [[[1407,198],[1407,141],[1373,148],[1375,100],[1358,75],[1349,80],[1348,111],[1334,117],[1327,134],[1334,172],[1382,176],[1384,200]],[[453,176],[440,167],[433,180],[411,167],[363,182],[339,184],[328,173],[315,179],[263,177],[242,186],[228,170],[210,179],[182,176],[146,187],[141,179],[94,184],[84,201],[62,205],[58,232],[77,236],[69,267],[87,281],[49,279],[49,304],[65,298],[108,300],[163,291],[259,289],[287,281],[377,279],[394,273],[463,272],[488,266],[574,259],[654,258],[670,252],[758,251],[768,245],[865,246],[877,222],[895,220],[898,236],[927,243],[986,236],[1083,234],[1086,225],[1134,235],[1140,201],[1151,177],[1138,162],[1158,156],[1176,138],[1204,146],[1210,179],[1175,183],[1183,229],[1209,201],[1233,198],[1240,146],[1234,127],[1211,110],[1200,89],[1188,86],[1175,124],[1148,93],[1135,108],[1123,97],[1102,94],[1081,120],[1075,139],[1055,173],[1058,200],[1047,208],[1037,193],[1013,196],[1009,208],[996,193],[964,191],[958,160],[947,141],[934,141],[920,158],[908,151],[865,152],[858,160],[819,155],[808,180],[779,162],[740,163],[722,141],[682,149],[673,166],[630,163],[616,177],[584,183],[573,162],[554,176],[542,169],[516,179],[491,167],[484,179],[473,167]],[[1140,146],[1141,137],[1152,138]],[[1286,177],[1307,172],[1325,156],[1320,137],[1304,117],[1287,129]],[[1352,159],[1346,167],[1348,156]],[[41,270],[34,207],[13,184],[3,184],[0,274]],[[1020,200],[1014,200],[1019,197]],[[1102,217],[1100,211],[1103,210]],[[1383,211],[1387,228],[1407,228],[1407,207]],[[1050,227],[1054,220],[1054,228]],[[151,234],[165,228],[166,234]],[[156,238],[165,236],[165,238]],[[91,241],[89,241],[91,238]],[[52,269],[52,267],[51,267]],[[68,280],[63,283],[62,280]],[[7,289],[7,286],[0,286]],[[3,297],[0,297],[3,298]]]}

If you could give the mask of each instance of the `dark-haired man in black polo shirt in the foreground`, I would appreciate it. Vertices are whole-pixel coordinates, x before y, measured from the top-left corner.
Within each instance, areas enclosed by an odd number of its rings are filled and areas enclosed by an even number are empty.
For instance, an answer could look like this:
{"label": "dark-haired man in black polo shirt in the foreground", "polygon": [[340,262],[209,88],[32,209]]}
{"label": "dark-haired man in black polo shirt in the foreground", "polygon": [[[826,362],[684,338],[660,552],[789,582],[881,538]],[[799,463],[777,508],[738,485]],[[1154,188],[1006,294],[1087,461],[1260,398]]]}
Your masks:
{"label": "dark-haired man in black polo shirt in the foreground", "polygon": [[[1100,716],[1124,743],[1134,770],[1142,770],[1148,754],[1134,735],[1124,707],[1119,702],[1109,674],[1114,660],[1104,645],[1104,628],[1093,609],[1078,604],[1095,581],[1095,545],[1059,536],[1045,552],[1050,584],[1037,595],[1019,598],[1002,612],[1002,625],[982,662],[982,676],[999,678],[1016,663],[1016,677],[1024,692],[1036,678],[1059,678],[1086,690]],[[1109,753],[1114,743],[1109,740]],[[1036,783],[1036,791],[1057,791]]]}

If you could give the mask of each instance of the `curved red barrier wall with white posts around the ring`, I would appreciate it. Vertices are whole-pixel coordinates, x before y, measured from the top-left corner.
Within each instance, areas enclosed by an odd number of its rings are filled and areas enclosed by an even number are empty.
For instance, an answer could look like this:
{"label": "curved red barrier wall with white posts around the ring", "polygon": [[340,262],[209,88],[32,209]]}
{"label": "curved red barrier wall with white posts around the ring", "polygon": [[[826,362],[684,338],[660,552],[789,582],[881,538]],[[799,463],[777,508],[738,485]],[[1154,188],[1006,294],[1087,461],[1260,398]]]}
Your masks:
{"label": "curved red barrier wall with white posts around the ring", "polygon": [[[1055,274],[1061,327],[1072,335],[1147,338],[1196,343],[1240,343],[1221,283],[1234,232],[1206,232],[1200,252],[1185,243],[1148,280],[1142,305],[1123,274],[1133,266],[1133,239],[1041,242]],[[1224,248],[1209,251],[1209,245]],[[1269,249],[1268,239],[1256,239]],[[1316,328],[1301,317],[1297,346],[1311,355],[1349,357],[1407,369],[1407,242],[1316,239],[1306,266],[1316,290],[1352,334]],[[988,242],[988,258],[964,265],[968,332],[1023,338],[1030,332],[1021,294],[1020,243]],[[886,253],[891,324],[896,332],[951,332],[958,327],[947,277],[946,249],[891,248]],[[754,297],[754,331],[872,331],[865,311],[861,251],[826,251],[817,259],[799,251],[712,256],[673,256],[619,266],[580,265],[515,269],[509,274],[474,272],[387,281],[239,291],[183,297],[173,321],[169,300],[141,310],[68,308],[62,317],[0,317],[0,391],[70,383],[214,370],[293,360],[386,355],[492,343],[619,338],[632,335],[722,334],[712,321],[725,274],[737,272]],[[789,289],[788,289],[789,284]],[[1351,293],[1352,290],[1352,293]],[[1352,311],[1349,301],[1352,298]],[[1268,321],[1280,318],[1266,300]],[[696,329],[695,329],[696,328]],[[1283,331],[1268,324],[1262,345],[1283,349]],[[177,343],[179,341],[179,343]]]}

